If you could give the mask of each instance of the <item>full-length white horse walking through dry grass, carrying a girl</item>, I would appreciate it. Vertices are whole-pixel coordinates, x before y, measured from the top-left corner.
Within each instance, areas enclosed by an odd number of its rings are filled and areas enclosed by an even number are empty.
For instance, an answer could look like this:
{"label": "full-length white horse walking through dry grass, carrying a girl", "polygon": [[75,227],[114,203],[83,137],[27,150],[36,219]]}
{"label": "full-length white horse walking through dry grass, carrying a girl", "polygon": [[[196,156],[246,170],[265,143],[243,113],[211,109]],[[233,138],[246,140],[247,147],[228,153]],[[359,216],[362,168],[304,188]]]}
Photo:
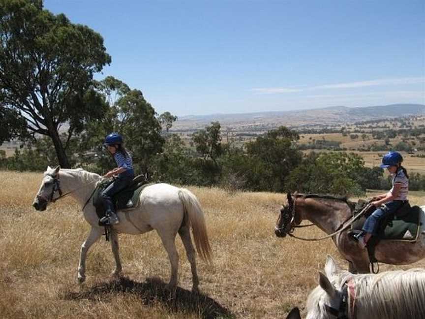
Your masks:
{"label": "full-length white horse walking through dry grass, carrying a girl", "polygon": [[[43,211],[49,202],[54,202],[65,194],[69,194],[83,208],[84,218],[91,225],[91,230],[88,238],[81,245],[77,272],[80,283],[86,279],[87,252],[103,233],[103,227],[98,225],[98,217],[91,200],[96,183],[101,179],[102,177],[99,175],[81,168],[60,169],[58,166],[53,169],[48,167],[33,202],[36,210]],[[204,214],[194,194],[186,189],[168,184],[153,184],[147,186],[140,193],[140,204],[137,208],[117,213],[121,222],[114,225],[110,232],[112,252],[116,263],[112,273],[114,276],[119,276],[122,271],[117,233],[142,234],[155,229],[170,258],[171,277],[168,287],[175,291],[179,265],[175,237],[179,233],[192,270],[192,290],[198,291],[199,280],[196,271],[195,250],[189,228],[192,227],[198,254],[209,262],[211,262],[211,247]]]}

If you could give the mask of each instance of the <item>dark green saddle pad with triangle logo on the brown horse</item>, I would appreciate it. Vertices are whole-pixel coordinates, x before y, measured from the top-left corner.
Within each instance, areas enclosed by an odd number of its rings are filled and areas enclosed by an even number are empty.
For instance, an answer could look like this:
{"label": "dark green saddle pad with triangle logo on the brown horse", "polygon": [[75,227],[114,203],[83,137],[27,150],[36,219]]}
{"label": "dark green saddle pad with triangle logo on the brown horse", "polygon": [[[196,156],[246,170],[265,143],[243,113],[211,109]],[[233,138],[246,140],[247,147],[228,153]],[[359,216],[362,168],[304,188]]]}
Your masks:
{"label": "dark green saddle pad with triangle logo on the brown horse", "polygon": [[419,234],[420,214],[419,206],[413,206],[408,214],[395,216],[380,234],[382,240],[416,241]]}

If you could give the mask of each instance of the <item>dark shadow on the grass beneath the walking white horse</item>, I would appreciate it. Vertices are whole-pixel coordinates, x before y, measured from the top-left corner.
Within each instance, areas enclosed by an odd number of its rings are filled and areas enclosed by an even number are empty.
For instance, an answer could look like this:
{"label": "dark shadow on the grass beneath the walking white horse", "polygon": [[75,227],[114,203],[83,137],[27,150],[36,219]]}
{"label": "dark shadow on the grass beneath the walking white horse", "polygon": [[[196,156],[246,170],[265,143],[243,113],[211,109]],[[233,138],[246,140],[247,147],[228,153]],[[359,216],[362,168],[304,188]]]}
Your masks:
{"label": "dark shadow on the grass beneath the walking white horse", "polygon": [[221,306],[214,299],[202,294],[177,287],[176,297],[171,298],[166,284],[159,278],[148,278],[144,283],[129,278],[100,283],[80,292],[67,291],[62,294],[65,300],[88,299],[100,301],[110,299],[110,294],[128,293],[138,296],[145,305],[161,303],[170,312],[187,312],[199,314],[203,319],[234,318],[230,310]]}

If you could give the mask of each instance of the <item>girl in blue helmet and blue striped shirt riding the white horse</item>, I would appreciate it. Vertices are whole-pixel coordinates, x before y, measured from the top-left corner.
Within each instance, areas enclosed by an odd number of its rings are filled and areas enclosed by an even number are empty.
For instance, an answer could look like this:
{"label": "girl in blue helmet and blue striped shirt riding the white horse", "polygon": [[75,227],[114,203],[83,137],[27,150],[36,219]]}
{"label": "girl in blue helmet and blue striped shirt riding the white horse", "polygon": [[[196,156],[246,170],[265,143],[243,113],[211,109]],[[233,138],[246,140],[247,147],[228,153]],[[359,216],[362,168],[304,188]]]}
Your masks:
{"label": "girl in blue helmet and blue striped shirt riding the white horse", "polygon": [[106,147],[114,157],[117,167],[105,174],[105,177],[117,176],[104,191],[102,191],[103,205],[106,210],[106,216],[101,218],[101,225],[116,225],[120,223],[115,212],[112,196],[129,185],[134,178],[133,160],[131,154],[122,145],[122,136],[118,133],[111,133],[106,136],[103,146]]}

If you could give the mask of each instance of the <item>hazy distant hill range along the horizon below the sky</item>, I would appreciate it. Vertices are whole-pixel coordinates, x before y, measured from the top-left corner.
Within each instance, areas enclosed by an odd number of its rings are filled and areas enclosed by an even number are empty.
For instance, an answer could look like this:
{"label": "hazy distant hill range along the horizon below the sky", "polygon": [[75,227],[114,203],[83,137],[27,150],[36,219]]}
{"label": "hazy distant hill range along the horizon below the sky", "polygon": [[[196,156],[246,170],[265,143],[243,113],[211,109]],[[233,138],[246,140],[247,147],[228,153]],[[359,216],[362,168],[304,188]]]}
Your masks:
{"label": "hazy distant hill range along the horizon below the sky", "polygon": [[223,128],[268,130],[279,126],[304,127],[337,125],[412,115],[425,115],[424,104],[390,104],[367,107],[332,106],[320,109],[240,114],[211,114],[183,116],[174,123],[172,131],[204,128],[220,122]]}

